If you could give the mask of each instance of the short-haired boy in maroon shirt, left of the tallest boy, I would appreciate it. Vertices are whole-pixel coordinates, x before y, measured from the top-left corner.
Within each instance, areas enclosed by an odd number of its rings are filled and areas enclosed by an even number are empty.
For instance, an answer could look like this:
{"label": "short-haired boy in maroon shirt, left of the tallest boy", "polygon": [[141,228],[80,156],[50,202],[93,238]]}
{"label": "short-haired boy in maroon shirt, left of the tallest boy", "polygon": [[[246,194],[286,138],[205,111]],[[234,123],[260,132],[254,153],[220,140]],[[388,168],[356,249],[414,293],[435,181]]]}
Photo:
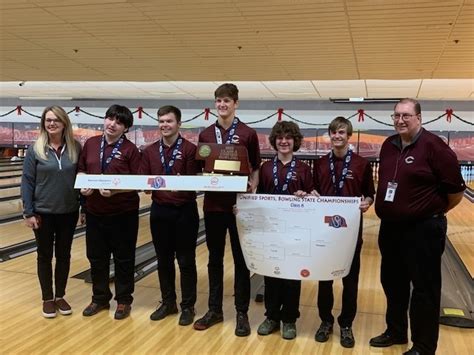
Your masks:
{"label": "short-haired boy in maroon shirt, left of the tallest boy", "polygon": [[[161,139],[143,151],[140,165],[142,175],[196,175],[196,146],[181,137],[181,111],[174,106],[158,110]],[[181,272],[180,325],[194,321],[196,303],[196,241],[199,214],[195,191],[153,191],[150,229],[158,258],[162,305],[150,315],[160,320],[178,313],[176,306],[175,266]]]}

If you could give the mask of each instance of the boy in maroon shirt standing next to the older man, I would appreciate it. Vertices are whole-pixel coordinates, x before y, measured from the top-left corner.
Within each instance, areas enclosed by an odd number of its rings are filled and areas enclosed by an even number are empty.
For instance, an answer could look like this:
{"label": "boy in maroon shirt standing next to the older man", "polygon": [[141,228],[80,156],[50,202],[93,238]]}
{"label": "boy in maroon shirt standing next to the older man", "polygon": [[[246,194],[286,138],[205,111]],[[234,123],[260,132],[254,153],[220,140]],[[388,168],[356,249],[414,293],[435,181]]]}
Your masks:
{"label": "boy in maroon shirt standing next to the older man", "polygon": [[[359,284],[360,252],[362,249],[362,213],[366,212],[374,201],[374,181],[370,163],[349,148],[352,136],[352,123],[344,117],[336,117],[329,124],[331,152],[316,160],[314,182],[317,192],[324,196],[360,196],[360,226],[357,245],[349,274],[342,279],[342,310],[337,318],[341,329],[340,343],[345,348],[355,344],[352,322],[357,312],[357,291]],[[333,281],[319,281],[318,310],[321,326],[315,340],[325,342],[332,333],[334,316],[332,307],[334,295]]]}

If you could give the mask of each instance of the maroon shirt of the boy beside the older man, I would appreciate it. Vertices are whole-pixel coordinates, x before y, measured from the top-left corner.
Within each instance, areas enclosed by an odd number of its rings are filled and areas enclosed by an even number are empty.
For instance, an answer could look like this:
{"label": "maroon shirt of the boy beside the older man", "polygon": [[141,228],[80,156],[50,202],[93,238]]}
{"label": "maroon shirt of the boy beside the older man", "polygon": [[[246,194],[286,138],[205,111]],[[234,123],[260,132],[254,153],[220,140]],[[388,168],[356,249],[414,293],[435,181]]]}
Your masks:
{"label": "maroon shirt of the boy beside the older man", "polygon": [[[336,181],[341,178],[344,159],[334,156],[334,166],[336,172]],[[314,162],[314,187],[323,196],[335,196],[334,186],[331,181],[331,170],[329,168],[329,154],[321,157]],[[372,200],[375,195],[374,178],[372,168],[367,159],[362,158],[356,153],[352,153],[351,162],[348,167],[347,175],[342,187],[341,196],[370,197]]]}

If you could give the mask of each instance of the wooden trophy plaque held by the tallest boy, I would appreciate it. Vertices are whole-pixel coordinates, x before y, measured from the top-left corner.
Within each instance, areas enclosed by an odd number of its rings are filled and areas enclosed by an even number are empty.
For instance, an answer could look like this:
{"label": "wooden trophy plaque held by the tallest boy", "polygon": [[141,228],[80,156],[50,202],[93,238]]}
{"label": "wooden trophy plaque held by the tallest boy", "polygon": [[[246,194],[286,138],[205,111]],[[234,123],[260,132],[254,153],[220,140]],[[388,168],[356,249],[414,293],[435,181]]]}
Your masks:
{"label": "wooden trophy plaque held by the tallest boy", "polygon": [[206,173],[250,174],[248,152],[243,145],[199,143],[196,160],[204,160]]}

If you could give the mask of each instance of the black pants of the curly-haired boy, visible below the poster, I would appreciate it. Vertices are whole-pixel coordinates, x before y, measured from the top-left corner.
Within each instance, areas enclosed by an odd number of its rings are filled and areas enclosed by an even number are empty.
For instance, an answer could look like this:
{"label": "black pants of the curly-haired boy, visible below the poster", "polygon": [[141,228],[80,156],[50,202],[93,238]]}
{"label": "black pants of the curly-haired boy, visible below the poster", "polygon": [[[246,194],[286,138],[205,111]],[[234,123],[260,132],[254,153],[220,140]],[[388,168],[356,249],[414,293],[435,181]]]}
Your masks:
{"label": "black pants of the curly-haired boy, visible below the poster", "polygon": [[295,323],[300,316],[301,281],[265,276],[265,316]]}

